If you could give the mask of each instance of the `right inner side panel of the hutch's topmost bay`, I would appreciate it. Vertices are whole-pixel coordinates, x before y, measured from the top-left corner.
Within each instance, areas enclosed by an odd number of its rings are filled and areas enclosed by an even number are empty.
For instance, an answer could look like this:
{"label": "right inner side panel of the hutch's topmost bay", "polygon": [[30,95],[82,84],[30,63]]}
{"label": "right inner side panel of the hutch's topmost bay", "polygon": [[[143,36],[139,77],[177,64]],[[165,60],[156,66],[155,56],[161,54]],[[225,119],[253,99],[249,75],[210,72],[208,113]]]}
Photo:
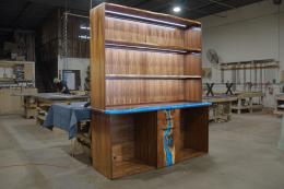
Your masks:
{"label": "right inner side panel of the hutch's topmost bay", "polygon": [[191,47],[193,49],[201,49],[201,29],[192,27],[186,31],[185,46]]}

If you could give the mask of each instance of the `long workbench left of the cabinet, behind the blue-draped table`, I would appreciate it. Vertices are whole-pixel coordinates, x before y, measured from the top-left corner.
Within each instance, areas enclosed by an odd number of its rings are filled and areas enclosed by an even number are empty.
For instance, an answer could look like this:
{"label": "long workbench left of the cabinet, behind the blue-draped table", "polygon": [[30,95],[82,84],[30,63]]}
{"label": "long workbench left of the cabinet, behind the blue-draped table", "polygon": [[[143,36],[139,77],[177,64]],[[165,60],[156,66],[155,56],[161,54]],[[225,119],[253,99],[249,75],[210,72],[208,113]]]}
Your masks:
{"label": "long workbench left of the cabinet, behind the blue-draped table", "polygon": [[86,95],[69,95],[61,93],[38,93],[37,95],[34,95],[34,97],[36,98],[37,106],[36,120],[39,125],[43,125],[46,120],[47,113],[52,104],[70,104],[75,102],[87,102],[88,99],[88,96]]}

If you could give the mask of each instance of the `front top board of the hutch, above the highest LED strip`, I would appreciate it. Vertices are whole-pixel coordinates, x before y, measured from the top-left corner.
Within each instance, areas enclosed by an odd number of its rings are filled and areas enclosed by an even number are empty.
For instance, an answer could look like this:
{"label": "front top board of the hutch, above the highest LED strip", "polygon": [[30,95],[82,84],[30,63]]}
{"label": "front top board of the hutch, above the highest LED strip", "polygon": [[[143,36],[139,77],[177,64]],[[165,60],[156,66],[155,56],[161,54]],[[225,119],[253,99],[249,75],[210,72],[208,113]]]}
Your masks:
{"label": "front top board of the hutch, above the highest LED strip", "polygon": [[185,24],[187,26],[200,26],[201,25],[201,23],[197,22],[197,21],[181,19],[181,17],[177,17],[174,15],[168,15],[168,14],[150,12],[150,11],[145,11],[145,10],[141,10],[141,9],[128,8],[128,7],[113,4],[113,3],[106,3],[106,10],[149,17],[149,19],[154,19],[154,20],[159,20],[159,21]]}

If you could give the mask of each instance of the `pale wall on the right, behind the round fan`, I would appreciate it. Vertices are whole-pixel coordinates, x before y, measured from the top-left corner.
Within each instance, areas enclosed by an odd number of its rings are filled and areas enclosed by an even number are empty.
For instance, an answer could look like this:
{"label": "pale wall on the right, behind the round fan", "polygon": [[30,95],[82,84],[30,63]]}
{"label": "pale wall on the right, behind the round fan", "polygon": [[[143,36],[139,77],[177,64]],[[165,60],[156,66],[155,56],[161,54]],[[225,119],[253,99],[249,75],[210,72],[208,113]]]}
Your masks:
{"label": "pale wall on the right, behind the round fan", "polygon": [[[206,58],[211,48],[216,50],[222,62],[275,59],[280,61],[280,70],[269,70],[265,74],[271,82],[273,79],[279,82],[280,71],[284,70],[284,3],[280,12],[272,0],[265,0],[220,13],[225,17],[200,19],[203,67],[211,67]],[[221,71],[213,69],[212,72],[212,81],[221,82]],[[273,98],[267,96],[267,105],[273,106]]]}

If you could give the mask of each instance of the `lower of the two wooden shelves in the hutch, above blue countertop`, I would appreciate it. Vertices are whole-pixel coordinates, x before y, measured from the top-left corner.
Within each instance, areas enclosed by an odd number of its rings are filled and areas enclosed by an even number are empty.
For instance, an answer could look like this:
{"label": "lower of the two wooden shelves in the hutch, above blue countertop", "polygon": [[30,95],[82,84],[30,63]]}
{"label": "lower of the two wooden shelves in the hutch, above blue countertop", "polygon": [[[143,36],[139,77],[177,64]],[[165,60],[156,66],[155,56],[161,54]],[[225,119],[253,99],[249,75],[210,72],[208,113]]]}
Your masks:
{"label": "lower of the two wooden shelves in the hutch, above blue countertop", "polygon": [[162,80],[188,80],[188,79],[201,79],[201,75],[106,74],[106,79],[162,79]]}

